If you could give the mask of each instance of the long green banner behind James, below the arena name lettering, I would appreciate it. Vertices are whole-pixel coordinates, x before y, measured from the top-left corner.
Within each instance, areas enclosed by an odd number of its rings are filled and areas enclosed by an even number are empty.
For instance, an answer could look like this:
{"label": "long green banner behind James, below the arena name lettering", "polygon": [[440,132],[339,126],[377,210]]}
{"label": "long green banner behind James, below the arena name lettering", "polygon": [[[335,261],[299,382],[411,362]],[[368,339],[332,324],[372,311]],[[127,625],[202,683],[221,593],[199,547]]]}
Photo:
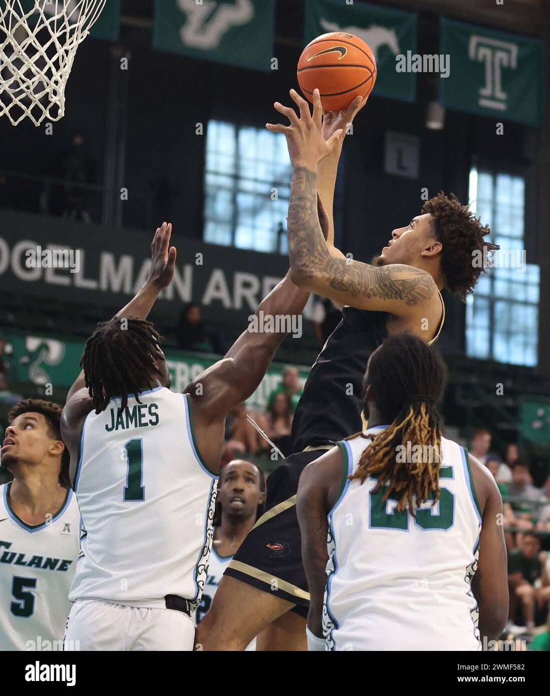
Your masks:
{"label": "long green banner behind James, below the arena name lettering", "polygon": [[[79,372],[79,361],[84,351],[84,341],[72,337],[22,333],[12,329],[0,329],[0,338],[6,341],[3,361],[8,366],[8,384],[35,386],[52,385],[47,396],[56,400],[56,387],[67,390]],[[171,389],[181,392],[203,370],[219,360],[219,356],[167,350],[166,363],[171,378]],[[269,394],[283,379],[285,365],[272,363],[247,404],[264,409]],[[305,383],[309,368],[299,367],[300,379]]]}

